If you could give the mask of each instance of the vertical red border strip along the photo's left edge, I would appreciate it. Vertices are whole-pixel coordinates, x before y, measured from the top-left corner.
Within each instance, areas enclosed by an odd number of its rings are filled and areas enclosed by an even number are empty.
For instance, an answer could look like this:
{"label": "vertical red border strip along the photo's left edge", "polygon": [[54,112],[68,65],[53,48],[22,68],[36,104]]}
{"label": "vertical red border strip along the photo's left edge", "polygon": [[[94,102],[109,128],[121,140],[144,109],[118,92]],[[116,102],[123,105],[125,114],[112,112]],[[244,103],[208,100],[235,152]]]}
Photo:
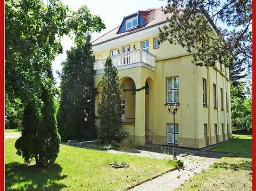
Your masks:
{"label": "vertical red border strip along the photo's left edge", "polygon": [[0,190],[4,191],[4,0],[0,0]]}

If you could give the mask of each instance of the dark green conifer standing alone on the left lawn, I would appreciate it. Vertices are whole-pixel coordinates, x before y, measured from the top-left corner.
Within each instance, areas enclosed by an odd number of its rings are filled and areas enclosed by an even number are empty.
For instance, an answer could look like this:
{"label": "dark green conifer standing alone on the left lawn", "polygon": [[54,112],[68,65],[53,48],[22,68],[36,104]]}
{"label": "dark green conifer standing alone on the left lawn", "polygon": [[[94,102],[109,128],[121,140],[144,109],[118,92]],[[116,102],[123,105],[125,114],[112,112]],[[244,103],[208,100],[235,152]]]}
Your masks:
{"label": "dark green conifer standing alone on the left lawn", "polygon": [[41,99],[31,99],[25,106],[22,136],[17,139],[17,154],[26,163],[33,158],[37,166],[50,165],[58,157],[60,138],[53,97],[55,87],[48,77],[42,82]]}

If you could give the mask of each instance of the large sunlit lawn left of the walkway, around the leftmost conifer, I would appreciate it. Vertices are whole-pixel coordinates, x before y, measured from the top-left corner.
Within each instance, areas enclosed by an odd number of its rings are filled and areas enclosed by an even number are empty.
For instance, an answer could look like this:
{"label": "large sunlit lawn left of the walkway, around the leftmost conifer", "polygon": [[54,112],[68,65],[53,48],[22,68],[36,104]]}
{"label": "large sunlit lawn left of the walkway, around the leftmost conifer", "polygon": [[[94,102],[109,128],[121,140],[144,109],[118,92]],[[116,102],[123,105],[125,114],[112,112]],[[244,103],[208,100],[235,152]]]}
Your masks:
{"label": "large sunlit lawn left of the walkway, around the leftmost conifer", "polygon": [[[5,186],[9,191],[122,191],[173,168],[163,160],[111,154],[61,145],[50,168],[25,166],[14,147],[16,139],[5,140]],[[130,168],[110,168],[110,162],[125,161]]]}

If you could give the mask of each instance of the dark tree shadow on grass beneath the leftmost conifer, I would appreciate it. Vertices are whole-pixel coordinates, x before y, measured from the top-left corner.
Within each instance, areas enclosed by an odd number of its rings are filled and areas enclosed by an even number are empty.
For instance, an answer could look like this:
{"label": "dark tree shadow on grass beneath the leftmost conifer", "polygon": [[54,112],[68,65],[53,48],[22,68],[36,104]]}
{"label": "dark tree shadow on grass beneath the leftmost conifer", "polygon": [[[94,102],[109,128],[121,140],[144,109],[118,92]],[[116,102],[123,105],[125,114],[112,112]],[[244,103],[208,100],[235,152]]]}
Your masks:
{"label": "dark tree shadow on grass beneath the leftmost conifer", "polygon": [[6,191],[59,191],[67,187],[57,183],[67,176],[61,175],[62,168],[53,164],[47,168],[37,168],[35,165],[26,166],[18,162],[5,164],[5,190]]}

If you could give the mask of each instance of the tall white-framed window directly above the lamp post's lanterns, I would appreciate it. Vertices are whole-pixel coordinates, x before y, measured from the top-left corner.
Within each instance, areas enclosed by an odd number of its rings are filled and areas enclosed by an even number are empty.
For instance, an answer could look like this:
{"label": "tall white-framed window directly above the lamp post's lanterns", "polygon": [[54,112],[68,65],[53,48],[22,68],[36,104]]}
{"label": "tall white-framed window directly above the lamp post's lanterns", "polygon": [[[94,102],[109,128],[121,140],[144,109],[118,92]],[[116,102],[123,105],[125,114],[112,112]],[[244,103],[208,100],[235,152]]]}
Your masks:
{"label": "tall white-framed window directly above the lamp post's lanterns", "polygon": [[179,77],[169,77],[166,80],[167,103],[179,103]]}

